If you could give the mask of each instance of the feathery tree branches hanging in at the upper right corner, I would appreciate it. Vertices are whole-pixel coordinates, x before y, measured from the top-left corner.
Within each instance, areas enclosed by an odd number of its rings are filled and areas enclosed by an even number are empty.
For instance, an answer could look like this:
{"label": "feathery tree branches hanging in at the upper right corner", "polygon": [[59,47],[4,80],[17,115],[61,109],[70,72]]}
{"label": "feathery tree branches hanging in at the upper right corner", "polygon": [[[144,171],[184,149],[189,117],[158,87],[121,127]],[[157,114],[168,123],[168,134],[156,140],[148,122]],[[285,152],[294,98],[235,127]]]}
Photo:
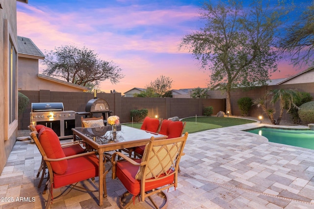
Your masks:
{"label": "feathery tree branches hanging in at the upper right corner", "polygon": [[[310,3],[310,2],[309,2]],[[286,27],[281,48],[294,66],[314,65],[314,1]]]}

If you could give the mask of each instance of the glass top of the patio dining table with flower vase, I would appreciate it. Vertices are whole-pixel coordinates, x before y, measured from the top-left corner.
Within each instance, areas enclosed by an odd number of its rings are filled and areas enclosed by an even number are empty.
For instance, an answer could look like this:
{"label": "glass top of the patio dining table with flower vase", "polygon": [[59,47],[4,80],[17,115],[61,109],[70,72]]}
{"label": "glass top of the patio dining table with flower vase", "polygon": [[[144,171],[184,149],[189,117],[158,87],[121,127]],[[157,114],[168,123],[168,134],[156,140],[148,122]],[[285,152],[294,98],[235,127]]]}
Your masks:
{"label": "glass top of the patio dining table with flower vase", "polygon": [[[121,128],[120,128],[121,127]],[[118,126],[117,132],[112,132],[111,126],[103,126],[96,128],[75,128],[73,130],[85,135],[89,139],[96,141],[99,144],[108,144],[115,142],[127,142],[132,140],[164,138],[164,135],[144,131],[137,128],[132,128],[129,126]]]}

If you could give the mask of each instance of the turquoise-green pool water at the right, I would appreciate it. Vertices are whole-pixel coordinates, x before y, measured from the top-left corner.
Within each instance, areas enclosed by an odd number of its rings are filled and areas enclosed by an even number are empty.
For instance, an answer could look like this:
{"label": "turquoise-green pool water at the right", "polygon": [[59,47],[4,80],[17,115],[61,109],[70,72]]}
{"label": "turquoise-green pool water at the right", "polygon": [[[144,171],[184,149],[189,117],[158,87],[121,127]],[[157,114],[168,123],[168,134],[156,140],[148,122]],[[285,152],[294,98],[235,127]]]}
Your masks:
{"label": "turquoise-green pool water at the right", "polygon": [[312,130],[291,130],[279,128],[259,128],[247,130],[247,132],[259,134],[269,141],[292,146],[314,149],[314,131]]}

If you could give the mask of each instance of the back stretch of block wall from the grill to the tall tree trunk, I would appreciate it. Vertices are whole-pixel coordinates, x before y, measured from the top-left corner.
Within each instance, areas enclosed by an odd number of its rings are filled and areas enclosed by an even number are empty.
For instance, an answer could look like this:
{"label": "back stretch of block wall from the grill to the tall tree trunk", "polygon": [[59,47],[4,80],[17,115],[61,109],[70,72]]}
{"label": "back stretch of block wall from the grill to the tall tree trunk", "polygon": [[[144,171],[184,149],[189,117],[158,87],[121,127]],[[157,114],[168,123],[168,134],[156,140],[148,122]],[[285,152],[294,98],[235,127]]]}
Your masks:
{"label": "back stretch of block wall from the grill to the tall tree trunk", "polygon": [[[85,106],[93,93],[83,92],[52,92],[49,90],[20,91],[29,98],[29,105],[22,116],[19,116],[19,130],[27,129],[30,122],[31,103],[62,102],[64,110],[75,112],[85,111]],[[142,98],[122,97],[121,93],[97,93],[97,98],[105,99],[113,113],[120,117],[121,123],[131,122],[130,111],[133,109],[147,109],[148,116],[158,118],[179,118],[188,116],[202,116],[205,107],[212,106],[213,114],[226,110],[225,99],[196,99],[196,98]],[[94,114],[101,116],[101,114]],[[76,114],[76,127],[81,126],[80,115]]]}

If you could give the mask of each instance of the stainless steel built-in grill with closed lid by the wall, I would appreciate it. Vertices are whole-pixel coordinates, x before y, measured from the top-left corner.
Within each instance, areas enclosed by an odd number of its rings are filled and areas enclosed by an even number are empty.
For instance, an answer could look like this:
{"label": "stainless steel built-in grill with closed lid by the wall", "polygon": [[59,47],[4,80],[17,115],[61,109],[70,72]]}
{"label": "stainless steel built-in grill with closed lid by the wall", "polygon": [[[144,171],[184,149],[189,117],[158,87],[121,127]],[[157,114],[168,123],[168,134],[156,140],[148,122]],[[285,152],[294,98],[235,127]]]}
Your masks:
{"label": "stainless steel built-in grill with closed lid by the wall", "polygon": [[31,103],[30,122],[52,128],[59,139],[66,139],[73,136],[75,111],[64,111],[62,102]]}

